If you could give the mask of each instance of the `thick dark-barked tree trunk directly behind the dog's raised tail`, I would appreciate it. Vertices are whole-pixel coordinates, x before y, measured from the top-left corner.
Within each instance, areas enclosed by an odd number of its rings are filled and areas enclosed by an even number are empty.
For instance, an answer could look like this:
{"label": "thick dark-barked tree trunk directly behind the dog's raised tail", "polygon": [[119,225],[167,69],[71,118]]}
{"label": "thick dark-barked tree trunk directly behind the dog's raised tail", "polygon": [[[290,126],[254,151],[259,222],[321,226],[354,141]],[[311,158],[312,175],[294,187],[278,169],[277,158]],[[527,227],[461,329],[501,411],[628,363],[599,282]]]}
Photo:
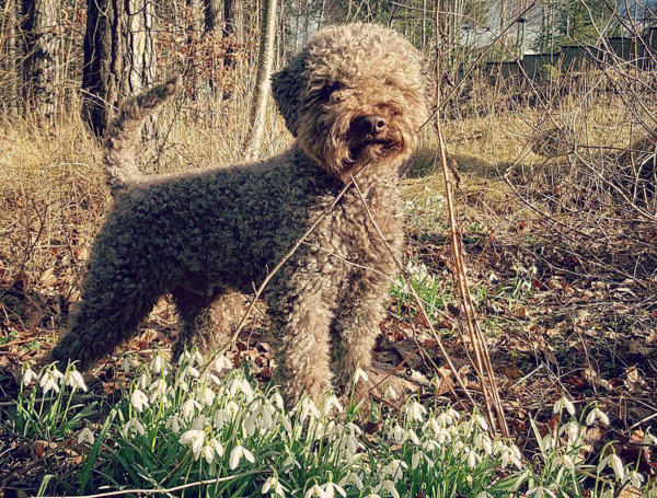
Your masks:
{"label": "thick dark-barked tree trunk directly behind the dog's raised tail", "polygon": [[123,102],[154,81],[153,20],[149,0],[88,2],[83,117],[99,139]]}

